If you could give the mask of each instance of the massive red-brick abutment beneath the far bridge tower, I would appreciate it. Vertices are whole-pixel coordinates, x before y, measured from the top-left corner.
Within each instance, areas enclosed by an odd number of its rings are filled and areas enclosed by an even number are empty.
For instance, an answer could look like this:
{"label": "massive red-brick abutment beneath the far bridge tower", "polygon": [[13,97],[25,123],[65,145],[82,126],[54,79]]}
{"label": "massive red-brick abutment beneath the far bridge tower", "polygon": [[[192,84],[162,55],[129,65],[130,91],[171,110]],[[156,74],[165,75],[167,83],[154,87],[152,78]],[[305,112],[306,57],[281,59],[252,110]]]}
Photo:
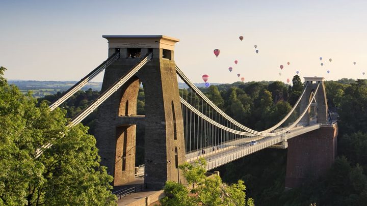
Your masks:
{"label": "massive red-brick abutment beneath the far bridge tower", "polygon": [[305,180],[325,174],[337,154],[337,124],[322,125],[288,140],[285,187],[295,188]]}

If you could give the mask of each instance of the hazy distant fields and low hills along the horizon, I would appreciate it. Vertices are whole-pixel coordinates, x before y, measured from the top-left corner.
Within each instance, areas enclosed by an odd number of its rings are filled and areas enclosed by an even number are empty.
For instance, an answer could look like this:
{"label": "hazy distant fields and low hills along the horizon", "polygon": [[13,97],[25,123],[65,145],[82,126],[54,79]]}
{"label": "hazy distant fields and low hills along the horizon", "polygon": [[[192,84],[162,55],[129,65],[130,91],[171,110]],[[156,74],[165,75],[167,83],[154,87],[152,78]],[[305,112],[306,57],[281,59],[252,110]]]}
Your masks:
{"label": "hazy distant fields and low hills along the horizon", "polygon": [[[53,95],[58,92],[64,92],[68,90],[77,81],[33,81],[33,80],[8,80],[9,84],[16,85],[23,94],[27,94],[28,91],[32,91],[32,96],[35,98],[42,98],[46,95]],[[194,83],[197,87],[205,87],[205,83]],[[212,85],[218,85],[220,83],[211,83]],[[102,82],[89,82],[82,90],[96,90],[100,91]],[[188,86],[185,83],[178,83],[179,89],[187,89]]]}

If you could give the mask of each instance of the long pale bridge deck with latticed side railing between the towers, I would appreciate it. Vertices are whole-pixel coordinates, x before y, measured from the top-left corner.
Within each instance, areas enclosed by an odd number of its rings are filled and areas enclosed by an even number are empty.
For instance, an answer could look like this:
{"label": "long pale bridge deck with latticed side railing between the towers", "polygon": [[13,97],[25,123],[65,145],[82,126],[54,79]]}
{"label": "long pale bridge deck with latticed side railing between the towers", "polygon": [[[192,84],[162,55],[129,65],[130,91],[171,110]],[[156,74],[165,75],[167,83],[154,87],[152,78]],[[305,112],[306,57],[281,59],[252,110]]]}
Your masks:
{"label": "long pale bridge deck with latticed side railing between the towers", "polygon": [[[314,124],[310,126],[297,126],[290,130],[289,133],[284,133],[278,136],[254,136],[233,140],[230,142],[224,142],[223,144],[218,145],[219,149],[215,148],[214,151],[213,146],[211,148],[205,148],[205,154],[201,154],[201,151],[189,153],[186,155],[186,161],[194,162],[195,160],[203,157],[207,162],[206,170],[211,170],[239,158],[245,157],[259,150],[269,148],[274,144],[281,143],[283,140],[291,139],[301,134],[317,130],[320,127],[321,124]],[[257,141],[256,144],[251,145],[250,142],[254,140]],[[200,155],[198,153],[200,153]]]}

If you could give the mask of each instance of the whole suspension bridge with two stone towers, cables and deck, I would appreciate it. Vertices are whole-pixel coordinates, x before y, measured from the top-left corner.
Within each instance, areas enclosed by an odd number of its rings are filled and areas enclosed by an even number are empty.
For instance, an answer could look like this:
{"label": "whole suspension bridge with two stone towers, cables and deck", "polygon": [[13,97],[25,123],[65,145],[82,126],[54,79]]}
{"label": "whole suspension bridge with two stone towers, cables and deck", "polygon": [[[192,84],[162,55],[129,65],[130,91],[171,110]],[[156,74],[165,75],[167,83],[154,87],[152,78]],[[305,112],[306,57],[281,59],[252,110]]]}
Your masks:
{"label": "whole suspension bridge with two stone towers, cables and deck", "polygon": [[[101,164],[114,186],[138,174],[150,188],[167,180],[185,183],[178,169],[199,158],[207,170],[266,148],[289,148],[286,187],[327,170],[336,154],[337,124],[328,112],[324,78],[305,77],[304,90],[291,111],[273,127],[256,131],[233,120],[211,102],[174,63],[178,39],[166,36],[103,36],[109,58],[50,105],[54,110],[104,71],[102,94],[69,123],[72,127],[98,107],[96,140]],[[178,81],[188,89],[178,89]],[[137,115],[141,83],[145,115]],[[145,164],[136,170],[136,125],[145,125]],[[36,154],[52,146],[43,145]]]}

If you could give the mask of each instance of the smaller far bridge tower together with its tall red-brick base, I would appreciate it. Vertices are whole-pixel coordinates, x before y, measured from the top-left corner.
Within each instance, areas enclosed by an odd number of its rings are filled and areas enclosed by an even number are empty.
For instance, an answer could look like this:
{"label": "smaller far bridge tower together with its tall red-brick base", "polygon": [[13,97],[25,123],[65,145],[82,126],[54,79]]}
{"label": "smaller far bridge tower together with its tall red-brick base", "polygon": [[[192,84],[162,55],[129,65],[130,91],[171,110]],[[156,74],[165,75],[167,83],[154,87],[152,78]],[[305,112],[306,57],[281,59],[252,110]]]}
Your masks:
{"label": "smaller far bridge tower together with its tall red-brick base", "polygon": [[[316,92],[315,100],[311,97]],[[311,107],[301,123],[320,125],[320,129],[288,140],[285,187],[299,187],[306,179],[317,179],[332,165],[337,154],[338,127],[329,121],[328,106],[323,77],[305,77],[306,91],[300,102],[300,112],[309,101]]]}

